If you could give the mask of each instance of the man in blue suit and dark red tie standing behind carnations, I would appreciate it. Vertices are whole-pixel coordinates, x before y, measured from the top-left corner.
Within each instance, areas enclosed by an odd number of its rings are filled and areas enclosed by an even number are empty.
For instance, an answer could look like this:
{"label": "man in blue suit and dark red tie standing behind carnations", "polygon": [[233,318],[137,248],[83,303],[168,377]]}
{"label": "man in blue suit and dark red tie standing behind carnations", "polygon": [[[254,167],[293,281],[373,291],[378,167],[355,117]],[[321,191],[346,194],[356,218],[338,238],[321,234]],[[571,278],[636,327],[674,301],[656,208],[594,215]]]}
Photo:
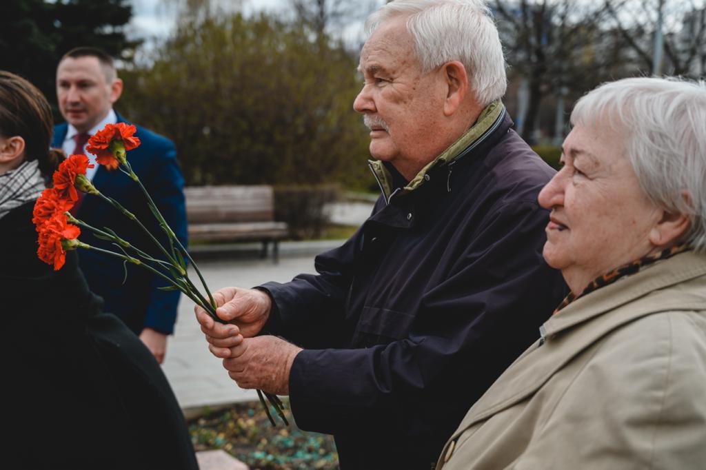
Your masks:
{"label": "man in blue suit and dark red tie standing behind carnations", "polygon": [[[52,146],[66,155],[86,153],[88,137],[107,123],[126,122],[114,112],[113,104],[122,92],[123,83],[116,74],[112,58],[100,49],[79,47],[67,52],[56,70],[56,95],[66,123],[54,126]],[[177,163],[174,144],[167,138],[137,126],[141,145],[128,152],[128,160],[155,200],[164,219],[186,246],[186,210],[184,178]],[[95,157],[86,153],[95,164]],[[133,212],[150,232],[166,243],[162,229],[148,209],[136,183],[120,171],[109,171],[96,164],[88,170],[94,185]],[[93,195],[77,204],[76,217],[93,227],[109,227],[134,246],[160,257],[154,243],[118,211]],[[84,229],[81,241],[92,246],[116,248]],[[164,281],[148,270],[128,264],[127,277],[117,258],[95,251],[80,251],[80,267],[90,289],[102,296],[105,311],[119,316],[162,363],[167,349],[167,335],[174,331],[179,291],[162,291]],[[124,281],[125,279],[125,281]]]}

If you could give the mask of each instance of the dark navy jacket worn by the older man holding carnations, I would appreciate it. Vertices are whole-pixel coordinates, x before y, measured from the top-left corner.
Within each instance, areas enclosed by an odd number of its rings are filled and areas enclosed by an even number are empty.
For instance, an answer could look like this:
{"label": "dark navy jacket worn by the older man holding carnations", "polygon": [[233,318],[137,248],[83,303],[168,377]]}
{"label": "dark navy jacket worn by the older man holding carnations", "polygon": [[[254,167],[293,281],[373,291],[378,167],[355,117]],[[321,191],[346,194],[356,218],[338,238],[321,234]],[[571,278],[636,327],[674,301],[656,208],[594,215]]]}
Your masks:
{"label": "dark navy jacket worn by the older man holding carnations", "polygon": [[276,307],[267,330],[306,348],[289,377],[294,419],[335,435],[344,470],[433,468],[566,294],[542,258],[537,195],[554,170],[511,123],[451,174],[433,167],[414,191],[378,199],[316,258],[318,275],[261,286]]}

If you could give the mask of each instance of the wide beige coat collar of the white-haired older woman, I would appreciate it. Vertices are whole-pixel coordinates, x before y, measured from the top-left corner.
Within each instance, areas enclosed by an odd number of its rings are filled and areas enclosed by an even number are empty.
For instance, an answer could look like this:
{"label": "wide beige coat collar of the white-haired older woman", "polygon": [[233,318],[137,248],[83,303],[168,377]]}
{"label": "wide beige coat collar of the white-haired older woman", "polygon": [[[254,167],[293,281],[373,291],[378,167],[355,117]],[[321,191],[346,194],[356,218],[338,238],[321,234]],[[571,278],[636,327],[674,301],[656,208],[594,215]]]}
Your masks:
{"label": "wide beige coat collar of the white-haired older woman", "polygon": [[581,351],[621,325],[661,311],[705,309],[706,255],[692,251],[576,300],[544,323],[543,338],[472,406],[452,440],[475,423],[530,397]]}

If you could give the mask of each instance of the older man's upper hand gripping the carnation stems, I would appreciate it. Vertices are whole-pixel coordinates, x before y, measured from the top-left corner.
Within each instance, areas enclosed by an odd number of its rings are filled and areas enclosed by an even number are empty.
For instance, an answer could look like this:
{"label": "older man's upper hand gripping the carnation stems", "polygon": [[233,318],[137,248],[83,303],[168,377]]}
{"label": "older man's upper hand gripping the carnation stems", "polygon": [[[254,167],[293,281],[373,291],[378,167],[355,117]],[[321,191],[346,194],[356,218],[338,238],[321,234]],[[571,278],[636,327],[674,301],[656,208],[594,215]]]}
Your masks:
{"label": "older man's upper hand gripping the carnation stems", "polygon": [[[262,330],[272,308],[270,296],[258,289],[226,287],[215,291],[213,300],[218,306],[216,315],[228,323],[237,325],[240,334],[246,338],[253,337]],[[195,306],[193,311],[205,335],[217,339],[229,336],[228,330],[222,328],[227,325],[219,325],[203,308]]]}

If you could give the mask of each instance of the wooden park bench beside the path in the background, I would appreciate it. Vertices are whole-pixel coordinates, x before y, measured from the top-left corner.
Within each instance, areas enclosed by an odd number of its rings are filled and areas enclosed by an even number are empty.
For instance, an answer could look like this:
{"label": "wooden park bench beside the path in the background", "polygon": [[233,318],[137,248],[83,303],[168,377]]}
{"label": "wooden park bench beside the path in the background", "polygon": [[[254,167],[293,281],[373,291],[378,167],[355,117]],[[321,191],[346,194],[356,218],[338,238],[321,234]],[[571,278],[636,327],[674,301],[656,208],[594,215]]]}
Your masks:
{"label": "wooden park bench beside the path in the background", "polygon": [[275,222],[272,186],[191,186],[184,188],[189,240],[261,241],[261,257],[273,243],[277,263],[280,240],[287,237],[287,224]]}

